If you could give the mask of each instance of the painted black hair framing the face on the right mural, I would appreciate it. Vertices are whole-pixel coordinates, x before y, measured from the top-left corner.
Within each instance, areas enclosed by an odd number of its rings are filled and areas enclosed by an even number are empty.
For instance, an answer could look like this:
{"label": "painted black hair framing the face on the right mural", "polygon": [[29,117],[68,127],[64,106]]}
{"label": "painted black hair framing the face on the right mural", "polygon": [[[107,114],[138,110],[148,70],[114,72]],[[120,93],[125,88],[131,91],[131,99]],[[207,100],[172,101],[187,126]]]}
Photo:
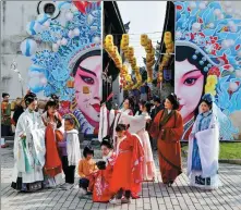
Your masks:
{"label": "painted black hair framing the face on the right mural", "polygon": [[[207,64],[209,64],[209,62],[206,60],[206,61],[204,61],[204,64],[201,65],[200,61],[203,59],[204,55],[202,53],[196,54],[195,51],[196,51],[195,49],[188,47],[188,46],[177,46],[176,47],[176,61],[182,62],[184,60],[188,60],[189,63],[191,63],[192,65],[195,65],[196,69],[201,71],[201,73],[204,76],[203,92],[202,92],[202,96],[203,96],[205,92],[205,84],[206,84],[207,73],[208,73],[208,72],[204,71],[204,67],[207,66]],[[194,54],[196,54],[195,60],[193,59]],[[196,118],[198,115],[198,107],[201,104],[201,100],[202,100],[202,97],[198,101],[197,107],[194,110],[194,118]]]}

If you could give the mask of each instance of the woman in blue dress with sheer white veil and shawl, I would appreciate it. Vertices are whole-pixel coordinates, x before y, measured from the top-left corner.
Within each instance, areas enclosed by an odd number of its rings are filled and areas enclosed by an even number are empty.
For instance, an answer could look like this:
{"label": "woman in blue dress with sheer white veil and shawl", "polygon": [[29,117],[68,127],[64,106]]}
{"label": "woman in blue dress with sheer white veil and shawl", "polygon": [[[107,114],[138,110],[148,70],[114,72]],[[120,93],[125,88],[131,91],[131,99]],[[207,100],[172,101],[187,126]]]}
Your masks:
{"label": "woman in blue dress with sheer white veil and shawl", "polygon": [[191,135],[189,137],[188,175],[190,185],[216,189],[218,177],[219,124],[217,106],[212,95],[203,96]]}

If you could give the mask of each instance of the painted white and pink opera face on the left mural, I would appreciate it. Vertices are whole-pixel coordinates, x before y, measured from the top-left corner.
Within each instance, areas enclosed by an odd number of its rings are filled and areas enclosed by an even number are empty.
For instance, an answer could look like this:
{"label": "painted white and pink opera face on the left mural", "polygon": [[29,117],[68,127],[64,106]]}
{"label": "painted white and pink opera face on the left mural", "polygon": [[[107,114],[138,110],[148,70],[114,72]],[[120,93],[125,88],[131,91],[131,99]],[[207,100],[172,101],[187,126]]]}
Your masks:
{"label": "painted white and pink opera face on the left mural", "polygon": [[98,126],[100,113],[101,57],[94,55],[83,60],[74,77],[77,107],[93,125]]}

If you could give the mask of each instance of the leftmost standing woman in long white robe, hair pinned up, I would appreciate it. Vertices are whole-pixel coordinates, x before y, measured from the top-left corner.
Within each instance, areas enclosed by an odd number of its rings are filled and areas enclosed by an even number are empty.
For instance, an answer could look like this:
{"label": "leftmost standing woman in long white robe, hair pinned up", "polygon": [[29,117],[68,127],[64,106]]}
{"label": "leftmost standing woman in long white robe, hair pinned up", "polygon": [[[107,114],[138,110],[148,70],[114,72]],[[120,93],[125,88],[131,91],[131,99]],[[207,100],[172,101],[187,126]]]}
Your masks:
{"label": "leftmost standing woman in long white robe, hair pinned up", "polygon": [[44,187],[45,125],[35,112],[37,97],[28,92],[24,97],[26,111],[21,114],[14,138],[14,169],[12,188],[34,192]]}

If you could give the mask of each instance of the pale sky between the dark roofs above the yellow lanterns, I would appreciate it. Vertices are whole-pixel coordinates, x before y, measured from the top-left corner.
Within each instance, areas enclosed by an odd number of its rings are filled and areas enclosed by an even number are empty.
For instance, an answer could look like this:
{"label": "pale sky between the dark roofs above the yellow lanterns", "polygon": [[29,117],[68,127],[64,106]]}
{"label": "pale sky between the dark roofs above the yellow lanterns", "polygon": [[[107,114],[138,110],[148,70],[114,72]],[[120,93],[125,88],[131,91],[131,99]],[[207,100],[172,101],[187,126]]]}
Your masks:
{"label": "pale sky between the dark roofs above the yellow lanterns", "polygon": [[[166,1],[118,1],[118,7],[123,23],[130,24],[130,46],[134,47],[135,57],[140,66],[144,65],[142,57],[145,50],[141,46],[141,34],[147,34],[156,46],[156,41],[161,39],[166,15]],[[134,35],[132,35],[134,34]]]}

